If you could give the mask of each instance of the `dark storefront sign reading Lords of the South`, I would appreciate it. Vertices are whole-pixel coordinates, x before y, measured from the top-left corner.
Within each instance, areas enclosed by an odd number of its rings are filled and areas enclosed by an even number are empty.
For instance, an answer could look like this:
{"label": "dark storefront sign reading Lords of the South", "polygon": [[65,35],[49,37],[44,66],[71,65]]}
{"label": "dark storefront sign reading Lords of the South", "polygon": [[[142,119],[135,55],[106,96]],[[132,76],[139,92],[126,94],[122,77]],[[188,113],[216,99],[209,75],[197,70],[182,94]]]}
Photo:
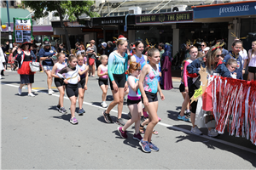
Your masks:
{"label": "dark storefront sign reading Lords of the South", "polygon": [[136,24],[160,24],[184,21],[193,21],[193,11],[166,14],[143,14],[136,16]]}

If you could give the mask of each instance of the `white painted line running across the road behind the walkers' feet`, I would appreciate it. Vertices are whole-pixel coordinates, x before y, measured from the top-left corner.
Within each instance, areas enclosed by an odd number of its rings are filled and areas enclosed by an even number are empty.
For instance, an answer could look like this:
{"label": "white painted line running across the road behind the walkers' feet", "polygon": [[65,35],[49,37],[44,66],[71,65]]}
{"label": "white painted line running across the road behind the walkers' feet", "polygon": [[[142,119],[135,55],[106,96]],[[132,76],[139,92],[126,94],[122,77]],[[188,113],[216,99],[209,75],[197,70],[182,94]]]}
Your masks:
{"label": "white painted line running across the road behind the walkers' feet", "polygon": [[[3,84],[3,85],[6,85],[6,86],[10,86],[10,87],[14,87],[14,88],[19,88],[19,86],[17,86],[17,85],[7,84],[7,83],[4,83],[4,82],[0,82],[0,83]],[[38,92],[38,91],[40,91],[40,90],[32,89],[32,91]],[[45,92],[44,94],[47,94],[47,93]],[[52,94],[52,96],[60,97],[60,95],[58,95],[58,94]],[[67,98],[67,97],[64,97],[64,99],[68,99],[68,98]],[[96,108],[99,108],[99,109],[102,109],[102,110],[106,110],[106,108],[103,108],[103,107],[98,106],[98,105],[92,105],[91,103],[88,103],[88,102],[85,102],[85,101],[84,101],[83,103],[84,103],[84,105],[90,105],[90,106],[93,106],[93,107],[96,107]],[[118,111],[115,111],[115,110],[111,110],[111,111],[116,112],[116,113],[118,112]],[[122,112],[122,114],[126,114],[126,115],[127,115],[128,113]],[[158,122],[158,124],[161,125],[161,126],[163,126],[163,127],[171,127],[171,128],[173,128],[173,129],[175,129],[175,130],[182,131],[183,133],[191,133],[191,132],[190,132],[189,130],[187,130],[187,129],[183,129],[183,128],[181,128],[181,127],[175,127],[175,126],[173,126],[173,125],[169,125],[169,124],[166,124],[166,123],[164,123],[164,122]],[[193,133],[191,133],[191,134],[193,134]],[[209,137],[209,136],[204,135],[204,134],[203,134],[203,135],[198,135],[198,137],[205,138],[205,139],[209,139],[209,140],[213,140],[213,141],[218,142],[218,143],[221,143],[221,144],[227,144],[227,145],[233,146],[233,147],[235,147],[235,148],[237,148],[237,149],[246,150],[246,151],[248,151],[248,152],[252,152],[253,154],[255,154],[255,150],[249,149],[249,148],[244,147],[244,146],[241,146],[241,145],[239,145],[239,144],[233,144],[233,143],[224,141],[224,140],[222,140],[222,139],[215,139],[215,138]]]}

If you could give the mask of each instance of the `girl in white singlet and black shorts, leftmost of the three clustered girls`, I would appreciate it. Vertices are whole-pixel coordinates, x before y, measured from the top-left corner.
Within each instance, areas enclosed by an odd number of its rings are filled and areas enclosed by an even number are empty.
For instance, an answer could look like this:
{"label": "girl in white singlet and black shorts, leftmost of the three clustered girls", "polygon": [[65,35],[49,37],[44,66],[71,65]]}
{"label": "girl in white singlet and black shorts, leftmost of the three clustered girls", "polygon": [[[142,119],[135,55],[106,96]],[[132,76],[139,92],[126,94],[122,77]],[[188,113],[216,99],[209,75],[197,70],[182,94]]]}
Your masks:
{"label": "girl in white singlet and black shorts, leftmost of the three clustered girls", "polygon": [[64,100],[64,94],[65,94],[65,83],[63,82],[63,80],[57,76],[57,73],[59,71],[61,71],[61,69],[63,69],[65,66],[67,66],[67,64],[65,63],[65,54],[63,53],[58,53],[56,55],[58,62],[55,63],[55,65],[52,68],[51,71],[51,77],[55,77],[54,81],[55,81],[55,86],[56,88],[58,88],[59,92],[60,92],[60,97],[59,97],[59,103],[56,107],[56,109],[58,111],[60,111],[61,113],[67,113],[66,109],[64,108],[63,105],[63,100]]}

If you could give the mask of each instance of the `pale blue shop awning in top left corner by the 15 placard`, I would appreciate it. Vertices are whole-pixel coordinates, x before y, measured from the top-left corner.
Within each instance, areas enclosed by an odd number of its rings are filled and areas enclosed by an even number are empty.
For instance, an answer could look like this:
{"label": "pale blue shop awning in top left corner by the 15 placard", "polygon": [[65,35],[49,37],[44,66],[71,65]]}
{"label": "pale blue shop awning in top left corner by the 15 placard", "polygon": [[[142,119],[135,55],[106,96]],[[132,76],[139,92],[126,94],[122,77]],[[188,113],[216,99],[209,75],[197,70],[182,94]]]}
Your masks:
{"label": "pale blue shop awning in top left corner by the 15 placard", "polygon": [[[29,14],[30,14],[30,12],[27,9],[9,8],[9,22],[14,22],[13,18],[25,18]],[[1,8],[0,18],[1,18],[2,24],[8,23],[7,16],[8,16],[7,8]],[[31,18],[31,17],[29,17],[29,18]]]}

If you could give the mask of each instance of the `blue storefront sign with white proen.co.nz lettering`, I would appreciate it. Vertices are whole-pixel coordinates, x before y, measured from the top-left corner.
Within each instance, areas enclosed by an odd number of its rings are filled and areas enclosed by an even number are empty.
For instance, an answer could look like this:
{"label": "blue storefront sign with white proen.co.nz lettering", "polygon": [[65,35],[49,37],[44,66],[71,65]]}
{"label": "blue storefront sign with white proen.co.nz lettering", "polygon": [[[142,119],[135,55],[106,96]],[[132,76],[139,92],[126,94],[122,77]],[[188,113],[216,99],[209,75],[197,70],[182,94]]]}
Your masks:
{"label": "blue storefront sign with white proen.co.nz lettering", "polygon": [[256,2],[224,3],[195,7],[194,19],[256,14]]}

